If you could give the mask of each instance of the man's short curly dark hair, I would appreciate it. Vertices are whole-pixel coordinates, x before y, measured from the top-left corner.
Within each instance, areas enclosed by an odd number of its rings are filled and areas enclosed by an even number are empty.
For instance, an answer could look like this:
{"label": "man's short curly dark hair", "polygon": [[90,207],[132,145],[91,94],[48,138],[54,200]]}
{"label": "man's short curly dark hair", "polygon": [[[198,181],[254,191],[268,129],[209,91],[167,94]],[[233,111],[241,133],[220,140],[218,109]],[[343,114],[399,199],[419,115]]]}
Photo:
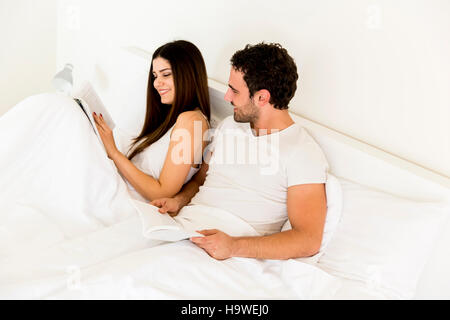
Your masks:
{"label": "man's short curly dark hair", "polygon": [[247,44],[231,57],[231,65],[244,73],[250,97],[266,89],[270,92],[270,104],[277,109],[289,108],[297,90],[297,66],[279,43]]}

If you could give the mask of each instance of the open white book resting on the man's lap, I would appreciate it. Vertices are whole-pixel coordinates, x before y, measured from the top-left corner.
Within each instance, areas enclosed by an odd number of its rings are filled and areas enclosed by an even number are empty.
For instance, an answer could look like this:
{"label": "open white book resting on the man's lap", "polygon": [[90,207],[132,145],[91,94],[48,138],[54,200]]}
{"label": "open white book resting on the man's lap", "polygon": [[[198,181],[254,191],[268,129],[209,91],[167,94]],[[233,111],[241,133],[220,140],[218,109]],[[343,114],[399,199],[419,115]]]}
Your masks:
{"label": "open white book resting on the man's lap", "polygon": [[139,212],[142,222],[142,233],[144,237],[163,241],[180,241],[190,237],[203,237],[202,234],[186,230],[174,218],[168,214],[162,214],[149,203],[130,199]]}

